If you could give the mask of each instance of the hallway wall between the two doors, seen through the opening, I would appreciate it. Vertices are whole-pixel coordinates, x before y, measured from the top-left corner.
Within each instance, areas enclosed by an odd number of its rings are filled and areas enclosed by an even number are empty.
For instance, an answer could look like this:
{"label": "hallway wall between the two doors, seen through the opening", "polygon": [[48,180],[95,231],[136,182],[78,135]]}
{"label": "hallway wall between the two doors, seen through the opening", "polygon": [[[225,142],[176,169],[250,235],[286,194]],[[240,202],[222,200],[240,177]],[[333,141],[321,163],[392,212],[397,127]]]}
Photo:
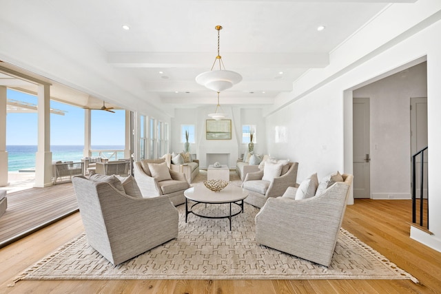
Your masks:
{"label": "hallway wall between the two doors, seen through the opening", "polygon": [[410,98],[427,97],[427,63],[353,91],[371,109],[371,196],[411,199]]}

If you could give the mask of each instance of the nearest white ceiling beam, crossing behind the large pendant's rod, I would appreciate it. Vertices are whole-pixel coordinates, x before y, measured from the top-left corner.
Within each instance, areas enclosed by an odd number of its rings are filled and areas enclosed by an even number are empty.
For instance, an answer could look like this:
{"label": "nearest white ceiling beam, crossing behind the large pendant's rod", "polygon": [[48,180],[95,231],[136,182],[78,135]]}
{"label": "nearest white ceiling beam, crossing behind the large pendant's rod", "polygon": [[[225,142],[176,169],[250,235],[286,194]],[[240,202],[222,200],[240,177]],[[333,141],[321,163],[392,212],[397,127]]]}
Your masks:
{"label": "nearest white ceiling beam, crossing behind the large pendant's rod", "polygon": [[[116,67],[207,67],[212,64],[216,55],[213,53],[147,53],[147,52],[114,52],[107,54],[107,62]],[[249,67],[300,67],[322,68],[329,65],[327,52],[294,52],[294,53],[225,53],[229,65],[234,68]]]}

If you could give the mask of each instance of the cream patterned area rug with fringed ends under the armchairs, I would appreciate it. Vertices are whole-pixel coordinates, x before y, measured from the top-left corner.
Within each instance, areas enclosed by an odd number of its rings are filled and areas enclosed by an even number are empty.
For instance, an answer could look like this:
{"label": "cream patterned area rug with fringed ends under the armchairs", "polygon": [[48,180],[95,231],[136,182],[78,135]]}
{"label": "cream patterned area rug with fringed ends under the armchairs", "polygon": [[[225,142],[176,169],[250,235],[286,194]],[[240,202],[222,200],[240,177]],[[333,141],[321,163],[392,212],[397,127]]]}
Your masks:
{"label": "cream patterned area rug with fringed ends under the armchairs", "polygon": [[[212,214],[224,213],[208,205]],[[205,208],[203,208],[205,209]],[[341,229],[331,266],[326,268],[257,244],[254,216],[258,209],[245,204],[245,213],[232,220],[189,215],[178,207],[179,235],[142,255],[113,266],[88,245],[85,235],[27,269],[17,280],[315,280],[365,279],[418,282],[351,233]],[[311,248],[314,250],[314,248]],[[13,284],[11,284],[13,286]]]}

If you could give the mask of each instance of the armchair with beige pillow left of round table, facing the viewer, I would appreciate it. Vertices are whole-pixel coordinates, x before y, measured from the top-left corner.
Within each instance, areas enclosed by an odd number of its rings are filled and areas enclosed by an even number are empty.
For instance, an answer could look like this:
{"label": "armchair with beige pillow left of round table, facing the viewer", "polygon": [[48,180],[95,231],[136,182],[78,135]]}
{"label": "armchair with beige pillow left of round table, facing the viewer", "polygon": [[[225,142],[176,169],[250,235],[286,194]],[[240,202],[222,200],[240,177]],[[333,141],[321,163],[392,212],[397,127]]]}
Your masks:
{"label": "armchair with beige pillow left of round table, facing the viewer", "polygon": [[[167,172],[163,169],[154,172],[152,166],[160,164],[165,165]],[[164,158],[136,161],[134,177],[143,197],[167,196],[175,206],[185,203],[184,191],[190,187],[187,178],[185,174],[169,169]]]}

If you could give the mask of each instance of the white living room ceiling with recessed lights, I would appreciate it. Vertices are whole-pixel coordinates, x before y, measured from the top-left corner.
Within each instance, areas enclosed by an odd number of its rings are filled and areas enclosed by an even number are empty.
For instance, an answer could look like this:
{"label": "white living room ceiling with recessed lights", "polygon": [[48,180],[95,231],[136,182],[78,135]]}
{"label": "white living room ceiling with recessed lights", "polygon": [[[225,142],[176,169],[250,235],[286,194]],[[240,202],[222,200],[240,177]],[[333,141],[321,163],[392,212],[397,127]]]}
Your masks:
{"label": "white living room ceiling with recessed lights", "polygon": [[[108,65],[141,83],[146,97],[161,100],[148,103],[167,107],[216,102],[194,78],[212,67],[214,27],[223,25],[220,55],[243,81],[220,94],[220,103],[265,107],[310,68],[329,65],[329,52],[391,2],[414,0],[41,0],[39,8],[67,20],[66,36],[81,34]],[[60,87],[54,95],[63,100]]]}

